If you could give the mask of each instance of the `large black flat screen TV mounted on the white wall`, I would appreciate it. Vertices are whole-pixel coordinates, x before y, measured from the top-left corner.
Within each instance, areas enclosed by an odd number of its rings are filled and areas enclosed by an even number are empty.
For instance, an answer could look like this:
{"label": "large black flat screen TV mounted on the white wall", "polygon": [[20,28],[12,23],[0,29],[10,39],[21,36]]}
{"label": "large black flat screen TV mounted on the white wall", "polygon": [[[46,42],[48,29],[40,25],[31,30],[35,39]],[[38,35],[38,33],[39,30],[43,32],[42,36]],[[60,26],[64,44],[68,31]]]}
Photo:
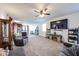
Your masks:
{"label": "large black flat screen TV mounted on the white wall", "polygon": [[68,29],[68,19],[50,22],[50,29]]}

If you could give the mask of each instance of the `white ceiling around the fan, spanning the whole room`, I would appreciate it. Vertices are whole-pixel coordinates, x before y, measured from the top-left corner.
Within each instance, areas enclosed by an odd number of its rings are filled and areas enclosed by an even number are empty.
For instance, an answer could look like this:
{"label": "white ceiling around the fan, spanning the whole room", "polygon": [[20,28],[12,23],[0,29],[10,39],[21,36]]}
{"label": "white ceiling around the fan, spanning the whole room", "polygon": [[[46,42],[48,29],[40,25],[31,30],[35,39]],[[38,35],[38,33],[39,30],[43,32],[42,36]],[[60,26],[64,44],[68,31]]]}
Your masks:
{"label": "white ceiling around the fan, spanning the whole room", "polygon": [[[51,14],[43,18],[35,17],[37,14],[34,9],[48,8],[48,12]],[[10,3],[0,4],[0,10],[7,12],[14,19],[20,20],[25,23],[39,23],[49,20],[53,17],[58,17],[79,11],[79,4],[77,3]]]}

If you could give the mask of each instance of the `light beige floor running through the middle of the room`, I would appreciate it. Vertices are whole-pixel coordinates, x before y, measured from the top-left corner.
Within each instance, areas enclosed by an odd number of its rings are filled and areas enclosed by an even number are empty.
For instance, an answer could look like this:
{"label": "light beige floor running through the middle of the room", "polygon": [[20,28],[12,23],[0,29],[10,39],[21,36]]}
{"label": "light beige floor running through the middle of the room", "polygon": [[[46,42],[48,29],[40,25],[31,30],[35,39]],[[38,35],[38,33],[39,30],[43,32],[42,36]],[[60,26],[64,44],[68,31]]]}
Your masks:
{"label": "light beige floor running through the middle of the room", "polygon": [[[24,52],[26,56],[58,56],[62,47],[62,43],[42,36],[31,35],[28,38],[28,43],[24,47],[15,47],[14,51],[17,54]],[[21,52],[19,52],[18,49],[22,49],[23,51],[20,50]]]}

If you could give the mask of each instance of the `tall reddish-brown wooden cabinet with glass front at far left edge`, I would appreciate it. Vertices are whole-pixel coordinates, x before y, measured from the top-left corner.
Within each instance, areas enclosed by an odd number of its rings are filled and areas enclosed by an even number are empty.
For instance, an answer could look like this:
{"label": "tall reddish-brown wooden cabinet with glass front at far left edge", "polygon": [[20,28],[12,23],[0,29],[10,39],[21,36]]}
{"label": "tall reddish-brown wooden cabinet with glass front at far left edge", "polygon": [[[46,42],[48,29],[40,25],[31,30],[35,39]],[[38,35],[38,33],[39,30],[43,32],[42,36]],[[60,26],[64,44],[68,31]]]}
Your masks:
{"label": "tall reddish-brown wooden cabinet with glass front at far left edge", "polygon": [[11,21],[12,19],[0,19],[0,48],[4,48],[4,42],[7,42],[9,50],[12,49]]}

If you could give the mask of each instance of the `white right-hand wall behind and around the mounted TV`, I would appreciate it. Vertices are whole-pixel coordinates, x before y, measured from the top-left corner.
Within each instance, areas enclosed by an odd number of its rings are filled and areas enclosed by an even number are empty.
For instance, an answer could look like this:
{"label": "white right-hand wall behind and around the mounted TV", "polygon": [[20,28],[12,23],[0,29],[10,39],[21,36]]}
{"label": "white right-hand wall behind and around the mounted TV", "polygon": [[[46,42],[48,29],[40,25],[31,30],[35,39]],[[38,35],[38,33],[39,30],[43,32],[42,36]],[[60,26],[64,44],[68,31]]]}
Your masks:
{"label": "white right-hand wall behind and around the mounted TV", "polygon": [[[56,21],[56,20],[62,20],[62,19],[68,19],[68,28],[77,28],[79,27],[79,12],[77,13],[72,13],[69,15],[64,15],[61,17],[55,17],[50,19],[49,21],[45,22],[46,23],[46,28],[50,29],[50,22],[51,21]],[[42,32],[42,24],[39,25],[40,28],[40,35],[45,37],[46,32]],[[56,30],[55,30],[56,31]],[[51,30],[51,33],[54,32],[54,30]],[[58,34],[62,34],[63,36],[63,41],[68,42],[68,30],[62,30],[62,31],[57,31]]]}

